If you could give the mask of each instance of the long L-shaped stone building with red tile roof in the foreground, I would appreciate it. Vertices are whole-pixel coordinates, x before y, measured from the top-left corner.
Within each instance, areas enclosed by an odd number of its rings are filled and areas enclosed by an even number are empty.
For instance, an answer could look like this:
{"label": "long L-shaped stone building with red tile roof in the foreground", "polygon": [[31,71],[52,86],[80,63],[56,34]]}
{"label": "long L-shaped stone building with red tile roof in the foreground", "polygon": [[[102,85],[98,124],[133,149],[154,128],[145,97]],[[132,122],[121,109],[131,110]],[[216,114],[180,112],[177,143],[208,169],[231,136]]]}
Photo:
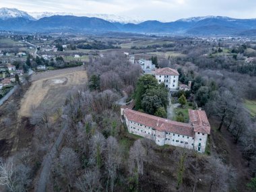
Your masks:
{"label": "long L-shaped stone building with red tile roof in the foreground", "polygon": [[189,123],[170,121],[146,113],[121,108],[129,133],[152,139],[159,146],[170,145],[205,152],[210,123],[203,110],[189,110]]}

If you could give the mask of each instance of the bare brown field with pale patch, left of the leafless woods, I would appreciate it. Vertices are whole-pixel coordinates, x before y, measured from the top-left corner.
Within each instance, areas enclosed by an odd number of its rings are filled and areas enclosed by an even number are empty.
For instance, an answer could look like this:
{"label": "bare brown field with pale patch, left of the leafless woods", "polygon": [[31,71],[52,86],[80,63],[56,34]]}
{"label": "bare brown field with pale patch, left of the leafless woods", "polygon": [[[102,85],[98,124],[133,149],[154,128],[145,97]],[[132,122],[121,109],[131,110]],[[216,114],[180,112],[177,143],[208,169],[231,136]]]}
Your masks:
{"label": "bare brown field with pale patch, left of the leafless woods", "polygon": [[30,117],[32,107],[44,106],[55,110],[63,105],[68,90],[87,82],[81,67],[47,71],[32,76],[34,82],[21,102],[20,117]]}

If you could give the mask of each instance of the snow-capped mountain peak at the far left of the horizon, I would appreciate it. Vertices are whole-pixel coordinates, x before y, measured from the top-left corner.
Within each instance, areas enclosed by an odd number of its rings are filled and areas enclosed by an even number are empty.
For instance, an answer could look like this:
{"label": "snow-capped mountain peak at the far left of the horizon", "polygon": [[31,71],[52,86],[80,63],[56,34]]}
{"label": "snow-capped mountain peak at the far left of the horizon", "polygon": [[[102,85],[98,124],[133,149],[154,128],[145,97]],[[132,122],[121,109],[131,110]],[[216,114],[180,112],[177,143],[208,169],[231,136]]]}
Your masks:
{"label": "snow-capped mountain peak at the far left of the horizon", "polygon": [[27,20],[34,20],[34,18],[26,13],[25,11],[20,11],[18,9],[10,9],[10,8],[0,8],[0,19],[8,20],[13,18],[24,18]]}

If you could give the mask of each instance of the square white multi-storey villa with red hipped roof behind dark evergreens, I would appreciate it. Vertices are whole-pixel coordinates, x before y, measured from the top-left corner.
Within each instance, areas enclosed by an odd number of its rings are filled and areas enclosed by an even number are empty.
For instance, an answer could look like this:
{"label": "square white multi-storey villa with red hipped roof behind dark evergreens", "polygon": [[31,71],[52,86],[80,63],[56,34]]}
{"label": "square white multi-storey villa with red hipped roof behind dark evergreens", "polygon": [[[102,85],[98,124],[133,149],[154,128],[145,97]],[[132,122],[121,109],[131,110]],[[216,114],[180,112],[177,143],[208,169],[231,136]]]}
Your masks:
{"label": "square white multi-storey villa with red hipped roof behind dark evergreens", "polygon": [[158,83],[164,83],[166,88],[170,90],[176,90],[179,82],[179,72],[176,69],[162,68],[156,69],[155,72]]}

